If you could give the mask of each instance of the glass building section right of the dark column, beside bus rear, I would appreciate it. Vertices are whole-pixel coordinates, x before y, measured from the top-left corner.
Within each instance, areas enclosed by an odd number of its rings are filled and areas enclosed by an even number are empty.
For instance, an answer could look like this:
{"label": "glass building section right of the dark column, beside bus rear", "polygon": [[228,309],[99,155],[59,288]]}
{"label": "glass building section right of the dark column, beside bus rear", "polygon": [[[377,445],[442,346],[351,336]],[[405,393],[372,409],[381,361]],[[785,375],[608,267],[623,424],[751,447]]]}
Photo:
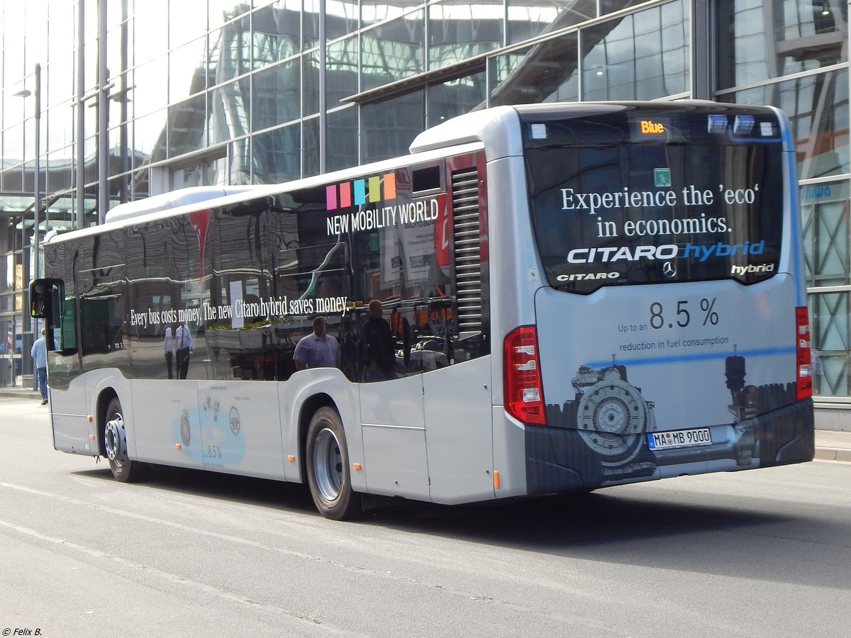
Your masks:
{"label": "glass building section right of the dark column, beside bus rear", "polygon": [[848,218],[848,3],[733,0],[719,3],[718,100],[779,106],[797,145],[804,256],[815,359],[814,391],[848,402],[851,230]]}

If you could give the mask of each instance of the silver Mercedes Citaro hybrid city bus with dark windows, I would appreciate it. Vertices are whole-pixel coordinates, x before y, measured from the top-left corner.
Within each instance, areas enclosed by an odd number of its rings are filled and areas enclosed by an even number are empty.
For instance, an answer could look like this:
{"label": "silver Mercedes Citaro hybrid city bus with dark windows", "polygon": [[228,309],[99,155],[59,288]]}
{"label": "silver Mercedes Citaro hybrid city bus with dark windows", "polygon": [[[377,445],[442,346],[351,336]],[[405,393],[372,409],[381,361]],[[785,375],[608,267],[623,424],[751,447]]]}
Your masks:
{"label": "silver Mercedes Citaro hybrid city bus with dark windows", "polygon": [[[794,168],[770,107],[506,106],[406,157],[117,207],[31,286],[54,447],[121,481],[306,482],[330,518],[807,461]],[[300,369],[317,316],[338,356]]]}

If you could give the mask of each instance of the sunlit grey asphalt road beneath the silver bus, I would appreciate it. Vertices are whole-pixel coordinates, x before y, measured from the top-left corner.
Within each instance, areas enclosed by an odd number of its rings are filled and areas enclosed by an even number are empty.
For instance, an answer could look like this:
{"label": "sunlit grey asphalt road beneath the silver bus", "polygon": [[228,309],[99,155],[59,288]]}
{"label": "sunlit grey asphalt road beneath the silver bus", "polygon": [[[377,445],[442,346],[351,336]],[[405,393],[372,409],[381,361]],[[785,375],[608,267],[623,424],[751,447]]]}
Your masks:
{"label": "sunlit grey asphalt road beneath the silver bus", "polygon": [[340,523],[273,481],[118,483],[30,400],[0,437],[3,636],[851,635],[848,463]]}

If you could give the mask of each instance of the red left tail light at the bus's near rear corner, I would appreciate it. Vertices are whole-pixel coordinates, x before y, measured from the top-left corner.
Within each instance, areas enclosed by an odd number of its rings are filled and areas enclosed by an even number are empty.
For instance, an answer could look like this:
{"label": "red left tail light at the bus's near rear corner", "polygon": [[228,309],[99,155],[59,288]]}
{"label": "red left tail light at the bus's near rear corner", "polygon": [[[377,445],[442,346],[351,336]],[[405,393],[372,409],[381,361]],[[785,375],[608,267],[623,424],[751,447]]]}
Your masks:
{"label": "red left tail light at the bus's near rear corner", "polygon": [[534,326],[521,326],[508,333],[502,364],[505,412],[523,424],[546,425],[538,333]]}

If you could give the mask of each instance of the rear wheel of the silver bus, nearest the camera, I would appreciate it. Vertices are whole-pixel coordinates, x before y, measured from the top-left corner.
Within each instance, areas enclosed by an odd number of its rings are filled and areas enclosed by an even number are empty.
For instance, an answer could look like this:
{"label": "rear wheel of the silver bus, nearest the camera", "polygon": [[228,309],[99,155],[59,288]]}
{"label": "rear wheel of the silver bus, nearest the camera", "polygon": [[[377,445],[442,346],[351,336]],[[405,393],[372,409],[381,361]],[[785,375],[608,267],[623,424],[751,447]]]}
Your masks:
{"label": "rear wheel of the silver bus, nearest the camera", "polygon": [[361,495],[351,489],[343,422],[333,407],[320,407],[313,414],[305,459],[311,497],[323,516],[343,521],[362,511]]}

